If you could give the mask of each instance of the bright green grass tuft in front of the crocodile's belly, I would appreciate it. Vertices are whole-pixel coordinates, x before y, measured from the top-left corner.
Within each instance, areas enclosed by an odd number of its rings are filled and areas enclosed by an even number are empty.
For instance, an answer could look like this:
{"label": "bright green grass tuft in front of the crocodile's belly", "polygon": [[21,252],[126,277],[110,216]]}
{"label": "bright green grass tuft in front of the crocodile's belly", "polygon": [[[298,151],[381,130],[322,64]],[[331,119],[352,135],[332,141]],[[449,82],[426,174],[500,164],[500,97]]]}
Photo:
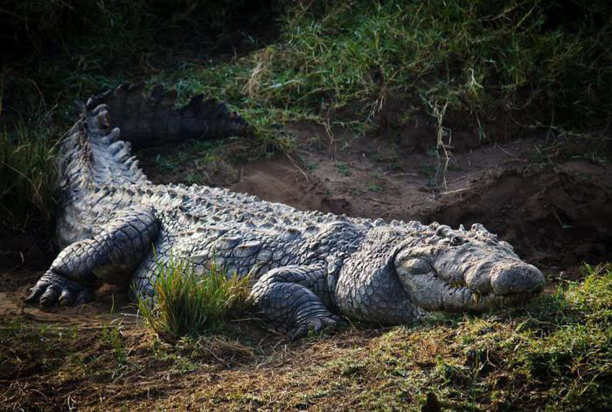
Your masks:
{"label": "bright green grass tuft in front of the crocodile's belly", "polygon": [[248,276],[228,278],[212,263],[197,274],[192,263],[171,257],[157,263],[155,301],[138,299],[138,309],[162,339],[177,342],[182,336],[217,331],[245,306]]}

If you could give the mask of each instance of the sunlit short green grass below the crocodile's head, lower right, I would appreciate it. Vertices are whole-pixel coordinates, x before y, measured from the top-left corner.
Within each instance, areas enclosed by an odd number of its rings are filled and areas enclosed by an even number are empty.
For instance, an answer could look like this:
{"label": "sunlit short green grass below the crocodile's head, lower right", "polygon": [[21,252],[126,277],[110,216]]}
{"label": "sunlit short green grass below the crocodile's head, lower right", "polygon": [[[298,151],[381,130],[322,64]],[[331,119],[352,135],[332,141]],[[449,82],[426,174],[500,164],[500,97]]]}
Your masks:
{"label": "sunlit short green grass below the crocodile's head, lower right", "polygon": [[[341,386],[369,383],[381,410],[433,391],[448,410],[610,410],[612,265],[519,309],[394,328],[326,367]],[[349,378],[350,377],[350,378]]]}

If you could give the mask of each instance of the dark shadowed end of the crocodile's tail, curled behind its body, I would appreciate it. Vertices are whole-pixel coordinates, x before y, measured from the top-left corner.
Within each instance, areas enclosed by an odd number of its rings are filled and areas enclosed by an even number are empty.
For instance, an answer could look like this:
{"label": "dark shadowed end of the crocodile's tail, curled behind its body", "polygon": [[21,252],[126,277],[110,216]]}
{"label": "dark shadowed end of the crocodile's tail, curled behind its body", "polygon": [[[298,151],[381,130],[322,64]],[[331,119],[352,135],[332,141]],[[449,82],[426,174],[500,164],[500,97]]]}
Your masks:
{"label": "dark shadowed end of the crocodile's tail, curled behind its body", "polygon": [[121,130],[121,139],[134,149],[179,143],[188,139],[212,139],[225,136],[253,136],[253,129],[239,114],[229,111],[215,99],[204,100],[199,94],[182,108],[176,108],[176,91],[166,92],[157,85],[149,97],[144,83],[121,84],[114,90],[89,98],[86,108],[108,106],[111,127]]}

